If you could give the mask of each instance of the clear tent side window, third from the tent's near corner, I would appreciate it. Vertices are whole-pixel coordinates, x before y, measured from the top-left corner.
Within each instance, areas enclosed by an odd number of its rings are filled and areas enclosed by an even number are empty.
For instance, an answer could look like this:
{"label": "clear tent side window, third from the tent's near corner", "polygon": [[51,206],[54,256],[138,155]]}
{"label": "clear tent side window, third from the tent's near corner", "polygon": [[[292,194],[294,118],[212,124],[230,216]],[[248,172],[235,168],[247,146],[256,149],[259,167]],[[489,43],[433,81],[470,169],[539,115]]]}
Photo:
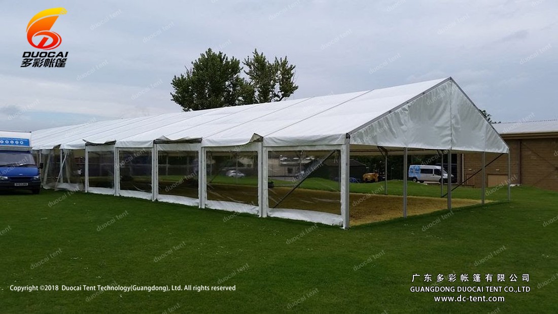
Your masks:
{"label": "clear tent side window, third from the tent's near corner", "polygon": [[198,199],[197,151],[158,152],[158,194]]}

